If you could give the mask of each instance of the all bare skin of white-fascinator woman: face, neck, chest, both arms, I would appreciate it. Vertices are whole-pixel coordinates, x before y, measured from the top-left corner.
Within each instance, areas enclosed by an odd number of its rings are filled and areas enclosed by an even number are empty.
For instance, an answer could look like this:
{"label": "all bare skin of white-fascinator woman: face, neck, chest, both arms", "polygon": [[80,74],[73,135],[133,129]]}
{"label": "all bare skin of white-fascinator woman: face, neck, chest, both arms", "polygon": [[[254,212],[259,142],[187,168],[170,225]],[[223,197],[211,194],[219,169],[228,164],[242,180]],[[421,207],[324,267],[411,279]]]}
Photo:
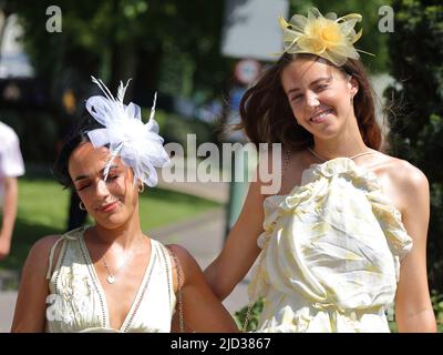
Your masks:
{"label": "all bare skin of white-fascinator woman: face, neck, chest, both arms", "polygon": [[[106,148],[94,149],[81,143],[69,160],[69,173],[79,196],[95,225],[87,229],[84,240],[91,261],[106,297],[110,324],[120,329],[126,318],[151,257],[151,239],[140,226],[138,187],[134,174],[122,160],[113,160],[109,176],[104,169],[110,161]],[[12,332],[43,332],[45,327],[45,298],[49,294],[49,253],[59,239],[41,239],[32,247],[23,266]],[[183,247],[171,245],[177,255],[183,294],[183,314],[187,332],[237,332],[229,313],[223,307],[205,282],[194,257]],[[54,260],[60,254],[59,244]],[[104,261],[115,273],[115,283],[109,284]],[[173,267],[173,287],[178,288],[178,267]],[[178,312],[172,331],[178,331]]]}

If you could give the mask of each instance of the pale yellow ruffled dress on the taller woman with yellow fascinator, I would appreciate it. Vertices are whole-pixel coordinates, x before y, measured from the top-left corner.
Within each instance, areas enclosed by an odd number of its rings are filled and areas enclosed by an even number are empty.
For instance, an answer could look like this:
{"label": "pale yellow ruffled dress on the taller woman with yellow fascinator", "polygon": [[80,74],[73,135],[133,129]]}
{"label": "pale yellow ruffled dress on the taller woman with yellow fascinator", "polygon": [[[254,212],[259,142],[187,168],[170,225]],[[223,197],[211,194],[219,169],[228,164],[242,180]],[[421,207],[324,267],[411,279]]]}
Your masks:
{"label": "pale yellow ruffled dress on the taller woman with yellow fascinator", "polygon": [[412,239],[373,173],[348,158],[313,164],[264,207],[249,284],[265,297],[260,332],[389,332]]}

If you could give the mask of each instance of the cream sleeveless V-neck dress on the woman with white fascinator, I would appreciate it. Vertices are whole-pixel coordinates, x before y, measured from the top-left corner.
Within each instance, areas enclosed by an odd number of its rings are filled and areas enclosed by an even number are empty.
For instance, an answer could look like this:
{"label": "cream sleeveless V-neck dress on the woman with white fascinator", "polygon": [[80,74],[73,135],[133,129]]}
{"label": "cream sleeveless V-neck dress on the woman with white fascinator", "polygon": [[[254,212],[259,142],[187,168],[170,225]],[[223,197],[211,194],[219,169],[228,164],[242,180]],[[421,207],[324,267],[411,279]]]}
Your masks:
{"label": "cream sleeveless V-neck dress on the woman with white fascinator", "polygon": [[[138,332],[168,333],[175,307],[172,261],[166,247],[151,240],[152,254],[143,281],[120,329],[110,325],[106,297],[95,273],[84,229],[65,233],[52,246],[47,300],[49,333],[65,332]],[[52,271],[52,258],[61,242],[59,258]]]}

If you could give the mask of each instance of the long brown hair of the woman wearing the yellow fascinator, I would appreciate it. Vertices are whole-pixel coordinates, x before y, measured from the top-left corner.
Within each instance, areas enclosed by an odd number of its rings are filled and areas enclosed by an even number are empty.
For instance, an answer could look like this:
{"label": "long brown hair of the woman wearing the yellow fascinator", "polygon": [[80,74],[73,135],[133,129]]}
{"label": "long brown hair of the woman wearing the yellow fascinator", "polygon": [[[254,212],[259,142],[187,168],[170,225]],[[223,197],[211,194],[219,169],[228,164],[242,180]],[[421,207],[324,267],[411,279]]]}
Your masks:
{"label": "long brown hair of the woman wearing the yellow fascinator", "polygon": [[[243,97],[241,122],[236,129],[244,129],[254,144],[282,143],[295,151],[313,145],[312,134],[297,124],[281,85],[284,69],[300,57],[318,58],[312,54],[282,54]],[[352,75],[359,83],[353,103],[360,133],[368,146],[380,150],[383,136],[375,120],[372,88],[363,64],[358,60],[348,59],[342,67],[336,68],[344,74]]]}

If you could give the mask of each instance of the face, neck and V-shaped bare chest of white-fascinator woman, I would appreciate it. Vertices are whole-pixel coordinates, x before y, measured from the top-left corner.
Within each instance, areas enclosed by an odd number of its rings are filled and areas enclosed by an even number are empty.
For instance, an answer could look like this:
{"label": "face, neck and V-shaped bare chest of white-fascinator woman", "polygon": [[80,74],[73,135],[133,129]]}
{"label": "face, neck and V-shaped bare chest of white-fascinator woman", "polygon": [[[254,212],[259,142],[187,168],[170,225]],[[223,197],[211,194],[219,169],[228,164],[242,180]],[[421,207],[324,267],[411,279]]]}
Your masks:
{"label": "face, neck and V-shaped bare chest of white-fascinator woman", "polygon": [[[121,159],[113,160],[104,180],[104,168],[110,160],[106,148],[94,149],[91,143],[79,145],[69,160],[69,172],[75,190],[95,226],[85,232],[85,242],[95,271],[106,293],[113,328],[120,328],[150,262],[151,242],[143,234],[138,219],[138,186],[134,175]],[[124,282],[110,285],[103,256],[111,271]]]}

